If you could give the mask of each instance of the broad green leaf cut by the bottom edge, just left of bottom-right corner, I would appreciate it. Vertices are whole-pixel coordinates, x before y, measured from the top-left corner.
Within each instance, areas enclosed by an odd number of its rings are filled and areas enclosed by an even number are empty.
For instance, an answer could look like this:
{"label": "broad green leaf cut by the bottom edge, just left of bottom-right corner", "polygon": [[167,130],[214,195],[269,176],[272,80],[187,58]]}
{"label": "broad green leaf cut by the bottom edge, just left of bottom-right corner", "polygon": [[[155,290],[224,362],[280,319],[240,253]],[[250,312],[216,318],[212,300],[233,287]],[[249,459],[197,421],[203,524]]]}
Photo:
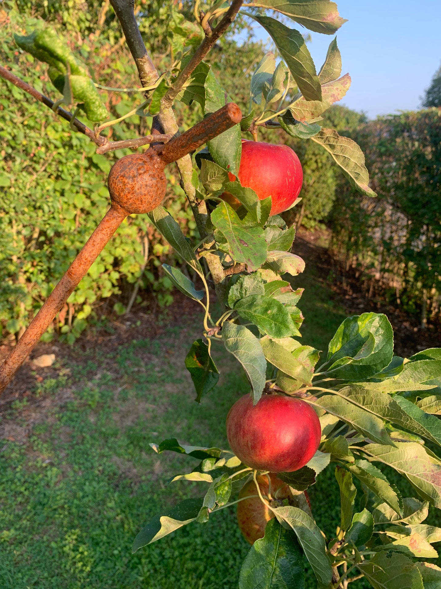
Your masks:
{"label": "broad green leaf cut by the bottom edge, just left of bottom-right corner", "polygon": [[357,566],[373,589],[425,589],[416,565],[399,552],[382,550]]}

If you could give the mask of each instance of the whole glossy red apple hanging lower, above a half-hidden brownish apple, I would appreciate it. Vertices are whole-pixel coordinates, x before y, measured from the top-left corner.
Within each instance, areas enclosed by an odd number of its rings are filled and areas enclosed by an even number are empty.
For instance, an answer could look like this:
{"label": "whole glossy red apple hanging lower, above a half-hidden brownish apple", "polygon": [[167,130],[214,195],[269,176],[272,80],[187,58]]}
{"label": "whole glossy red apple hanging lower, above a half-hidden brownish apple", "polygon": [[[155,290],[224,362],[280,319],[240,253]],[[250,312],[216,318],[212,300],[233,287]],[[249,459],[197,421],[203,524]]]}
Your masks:
{"label": "whole glossy red apple hanging lower, above a half-hidden brownish apple", "polygon": [[322,435],[316,412],[300,399],[262,395],[253,406],[250,395],[240,397],[226,418],[232,451],[251,468],[292,472],[316,453]]}

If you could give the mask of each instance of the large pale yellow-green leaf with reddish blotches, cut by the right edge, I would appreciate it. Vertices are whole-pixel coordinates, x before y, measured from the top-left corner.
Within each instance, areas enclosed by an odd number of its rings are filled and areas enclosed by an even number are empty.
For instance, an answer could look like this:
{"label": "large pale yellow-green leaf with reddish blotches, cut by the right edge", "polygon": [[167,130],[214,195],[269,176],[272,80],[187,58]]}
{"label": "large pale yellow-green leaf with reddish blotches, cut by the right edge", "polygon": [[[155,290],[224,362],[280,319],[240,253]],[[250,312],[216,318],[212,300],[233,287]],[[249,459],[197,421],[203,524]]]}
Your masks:
{"label": "large pale yellow-green leaf with reddish blotches, cut by the right edge", "polygon": [[441,508],[441,464],[416,442],[396,442],[396,448],[368,444],[361,448],[370,460],[383,462],[402,474],[420,497]]}

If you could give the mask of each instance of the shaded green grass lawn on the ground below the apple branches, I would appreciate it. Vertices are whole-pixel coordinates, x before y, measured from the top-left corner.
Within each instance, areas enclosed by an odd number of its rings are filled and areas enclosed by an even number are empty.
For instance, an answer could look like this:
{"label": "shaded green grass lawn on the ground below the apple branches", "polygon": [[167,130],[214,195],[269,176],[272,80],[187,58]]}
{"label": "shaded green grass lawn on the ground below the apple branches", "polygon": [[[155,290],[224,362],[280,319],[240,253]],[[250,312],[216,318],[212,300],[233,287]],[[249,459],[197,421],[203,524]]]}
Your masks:
{"label": "shaded green grass lawn on the ground below the apple branches", "polygon": [[[300,308],[303,340],[326,350],[344,318],[313,270]],[[183,365],[202,317],[184,318],[156,339],[138,339],[109,352],[96,345],[82,361],[61,360],[58,380],[46,380],[39,403],[19,401],[3,419],[28,428],[25,443],[0,444],[0,587],[2,589],[236,588],[249,550],[233,508],[213,514],[131,554],[146,521],[205,484],[175,482],[197,461],[156,455],[149,442],[176,436],[192,445],[227,447],[225,417],[249,390],[232,356],[219,345],[219,386],[193,401]],[[195,327],[196,326],[196,327]],[[395,482],[395,481],[394,481]],[[313,512],[332,536],[339,522],[333,468],[310,488]],[[364,582],[353,583],[361,589]],[[308,575],[308,589],[316,587]]]}

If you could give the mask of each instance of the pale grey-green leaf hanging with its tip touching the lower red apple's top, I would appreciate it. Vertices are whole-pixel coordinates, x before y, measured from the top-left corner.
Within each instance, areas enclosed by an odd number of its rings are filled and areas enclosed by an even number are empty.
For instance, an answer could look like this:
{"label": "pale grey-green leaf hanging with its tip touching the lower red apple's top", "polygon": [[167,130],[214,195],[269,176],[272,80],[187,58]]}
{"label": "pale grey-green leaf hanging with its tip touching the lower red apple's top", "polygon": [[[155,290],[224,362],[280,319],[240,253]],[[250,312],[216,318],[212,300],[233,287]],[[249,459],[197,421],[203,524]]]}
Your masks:
{"label": "pale grey-green leaf hanging with its tip touching the lower red apple's top", "polygon": [[262,396],[266,380],[266,360],[259,340],[243,325],[230,322],[223,324],[222,340],[226,350],[242,364],[255,405]]}

